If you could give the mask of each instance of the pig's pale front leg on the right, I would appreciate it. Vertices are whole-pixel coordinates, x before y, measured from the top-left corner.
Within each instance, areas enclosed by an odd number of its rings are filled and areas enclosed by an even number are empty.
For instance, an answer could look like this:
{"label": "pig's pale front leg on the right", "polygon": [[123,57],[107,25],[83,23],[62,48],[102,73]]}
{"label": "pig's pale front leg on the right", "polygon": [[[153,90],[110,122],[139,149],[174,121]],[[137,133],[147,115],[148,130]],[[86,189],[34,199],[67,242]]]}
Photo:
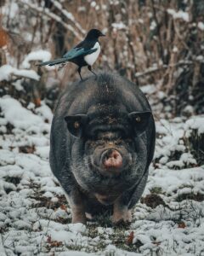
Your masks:
{"label": "pig's pale front leg on the right", "polygon": [[113,205],[113,224],[130,223],[132,221],[132,212],[127,209],[127,205],[122,203],[122,198],[119,197]]}

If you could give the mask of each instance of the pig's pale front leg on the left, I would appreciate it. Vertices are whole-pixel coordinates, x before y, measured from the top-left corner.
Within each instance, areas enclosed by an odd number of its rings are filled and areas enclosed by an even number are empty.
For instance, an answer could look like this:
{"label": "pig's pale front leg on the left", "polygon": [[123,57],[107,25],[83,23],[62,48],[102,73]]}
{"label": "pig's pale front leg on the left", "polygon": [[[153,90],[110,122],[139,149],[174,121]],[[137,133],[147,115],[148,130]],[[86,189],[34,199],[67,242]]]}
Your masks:
{"label": "pig's pale front leg on the left", "polygon": [[82,194],[77,188],[71,189],[69,195],[66,194],[67,201],[69,201],[72,220],[71,223],[87,224],[87,218],[85,216],[85,209],[82,200]]}

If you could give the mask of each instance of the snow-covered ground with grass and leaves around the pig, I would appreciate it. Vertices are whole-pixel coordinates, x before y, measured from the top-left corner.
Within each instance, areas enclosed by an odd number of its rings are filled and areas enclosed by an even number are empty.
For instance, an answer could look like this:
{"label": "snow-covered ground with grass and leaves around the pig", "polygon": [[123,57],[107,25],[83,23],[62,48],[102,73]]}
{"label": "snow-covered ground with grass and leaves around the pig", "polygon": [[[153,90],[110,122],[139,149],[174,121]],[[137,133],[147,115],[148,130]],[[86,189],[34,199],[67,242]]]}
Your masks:
{"label": "snow-covered ground with grass and leaves around the pig", "polygon": [[[0,99],[0,255],[204,255],[204,166],[190,154],[203,117],[156,123],[155,162],[129,227],[71,224],[48,165],[52,113]],[[191,152],[192,153],[192,152]]]}

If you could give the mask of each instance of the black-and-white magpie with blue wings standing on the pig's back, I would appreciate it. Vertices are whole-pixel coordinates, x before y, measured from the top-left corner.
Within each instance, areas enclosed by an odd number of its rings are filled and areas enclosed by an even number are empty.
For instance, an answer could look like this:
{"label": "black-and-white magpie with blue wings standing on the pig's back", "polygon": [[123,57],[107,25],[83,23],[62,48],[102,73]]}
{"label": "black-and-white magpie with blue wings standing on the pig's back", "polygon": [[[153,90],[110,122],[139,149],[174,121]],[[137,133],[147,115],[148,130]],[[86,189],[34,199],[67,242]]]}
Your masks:
{"label": "black-and-white magpie with blue wings standing on the pig's back", "polygon": [[[67,51],[62,58],[56,59],[54,61],[45,61],[38,64],[37,66],[54,66],[56,64],[70,61],[77,64],[77,72],[79,73],[80,79],[82,80],[82,67],[88,66],[88,70],[91,73],[94,73],[92,71],[92,66],[100,53],[99,37],[105,37],[105,35],[98,29],[91,29],[88,32],[86,38],[81,43],[77,44],[77,46]],[[94,75],[96,76],[96,73],[94,73]]]}

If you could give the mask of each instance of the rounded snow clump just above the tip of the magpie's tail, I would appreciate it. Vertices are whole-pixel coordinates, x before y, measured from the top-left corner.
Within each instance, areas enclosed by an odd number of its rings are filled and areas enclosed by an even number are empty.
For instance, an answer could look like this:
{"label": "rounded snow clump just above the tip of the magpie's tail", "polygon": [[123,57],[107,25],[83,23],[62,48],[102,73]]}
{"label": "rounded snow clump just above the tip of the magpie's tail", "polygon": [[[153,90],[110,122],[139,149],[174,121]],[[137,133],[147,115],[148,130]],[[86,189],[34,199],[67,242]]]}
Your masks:
{"label": "rounded snow clump just above the tip of the magpie's tail", "polygon": [[30,68],[30,61],[49,61],[51,59],[51,53],[48,50],[39,49],[31,51],[30,54],[26,55],[26,58],[22,62],[22,67]]}

